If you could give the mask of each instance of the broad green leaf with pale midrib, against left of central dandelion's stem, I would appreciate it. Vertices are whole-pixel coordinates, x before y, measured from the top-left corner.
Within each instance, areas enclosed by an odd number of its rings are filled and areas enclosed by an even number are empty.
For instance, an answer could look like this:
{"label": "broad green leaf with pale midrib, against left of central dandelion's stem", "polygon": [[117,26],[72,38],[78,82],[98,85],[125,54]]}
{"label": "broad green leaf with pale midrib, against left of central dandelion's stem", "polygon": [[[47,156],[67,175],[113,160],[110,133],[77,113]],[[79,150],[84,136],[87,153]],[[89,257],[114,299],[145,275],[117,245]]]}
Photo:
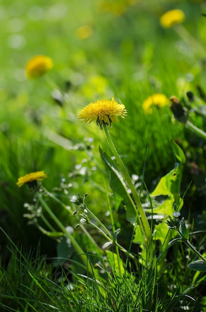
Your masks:
{"label": "broad green leaf with pale midrib, against left of central dandelion's stem", "polygon": [[[102,158],[102,161],[105,165],[109,176],[110,187],[114,192],[115,200],[118,200],[115,207],[118,210],[120,204],[120,198],[122,198],[124,205],[126,206],[126,219],[135,224],[139,220],[137,219],[137,208],[135,203],[128,193],[127,186],[124,182],[122,173],[116,163],[109,157],[105,152],[99,147],[99,152]],[[116,210],[116,211],[117,211]],[[139,223],[139,222],[138,222]]]}

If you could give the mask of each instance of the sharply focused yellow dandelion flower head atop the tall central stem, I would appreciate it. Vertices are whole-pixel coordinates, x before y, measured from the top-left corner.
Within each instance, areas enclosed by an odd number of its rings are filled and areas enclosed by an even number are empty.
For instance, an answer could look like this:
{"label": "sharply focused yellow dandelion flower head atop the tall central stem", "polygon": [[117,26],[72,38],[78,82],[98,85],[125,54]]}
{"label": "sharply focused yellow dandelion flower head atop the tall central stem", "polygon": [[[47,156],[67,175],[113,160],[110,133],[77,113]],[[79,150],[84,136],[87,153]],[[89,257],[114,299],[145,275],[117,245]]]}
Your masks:
{"label": "sharply focused yellow dandelion flower head atop the tall central stem", "polygon": [[96,120],[100,129],[102,125],[106,124],[107,126],[112,124],[112,122],[117,123],[118,117],[127,115],[127,110],[124,104],[118,104],[114,98],[112,100],[98,100],[94,103],[86,105],[78,115],[79,119],[83,119],[82,122],[89,122],[89,124]]}

